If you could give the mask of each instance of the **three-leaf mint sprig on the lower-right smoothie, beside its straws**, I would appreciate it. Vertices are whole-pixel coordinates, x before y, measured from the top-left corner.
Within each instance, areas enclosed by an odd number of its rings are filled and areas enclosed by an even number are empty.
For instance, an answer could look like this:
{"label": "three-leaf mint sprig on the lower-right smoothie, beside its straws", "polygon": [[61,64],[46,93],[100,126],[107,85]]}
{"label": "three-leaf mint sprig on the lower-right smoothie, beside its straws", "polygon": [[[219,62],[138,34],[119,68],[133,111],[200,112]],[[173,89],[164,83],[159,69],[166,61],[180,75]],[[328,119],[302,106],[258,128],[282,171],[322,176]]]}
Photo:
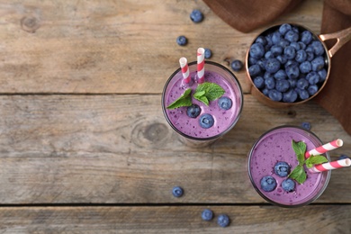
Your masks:
{"label": "three-leaf mint sprig on the lower-right smoothie, beside its straws", "polygon": [[293,171],[290,173],[290,175],[288,175],[288,177],[296,180],[299,184],[303,184],[307,178],[303,165],[311,168],[316,164],[328,162],[326,157],[320,155],[311,155],[311,157],[305,159],[306,144],[303,141],[295,142],[293,140],[293,151],[296,154],[299,165],[293,168]]}

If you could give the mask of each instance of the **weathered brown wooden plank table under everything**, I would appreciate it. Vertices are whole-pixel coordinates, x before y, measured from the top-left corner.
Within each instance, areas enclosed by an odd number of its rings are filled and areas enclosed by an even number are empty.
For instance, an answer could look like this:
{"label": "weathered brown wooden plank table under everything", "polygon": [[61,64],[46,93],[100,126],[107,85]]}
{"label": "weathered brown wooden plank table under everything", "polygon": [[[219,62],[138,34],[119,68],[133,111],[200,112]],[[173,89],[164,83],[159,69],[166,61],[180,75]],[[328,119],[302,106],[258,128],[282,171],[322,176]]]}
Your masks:
{"label": "weathered brown wooden plank table under everything", "polygon": [[[189,19],[196,8],[202,23]],[[322,8],[305,1],[275,23],[320,32]],[[184,146],[163,116],[180,57],[210,48],[229,67],[264,28],[236,31],[200,0],[1,0],[0,233],[350,233],[351,169],[298,209],[268,204],[247,176],[255,140],[283,124],[310,121],[324,142],[344,139],[333,158],[351,155],[351,137],[317,103],[266,107],[243,70],[241,118],[211,146]],[[203,221],[204,208],[230,226]]]}

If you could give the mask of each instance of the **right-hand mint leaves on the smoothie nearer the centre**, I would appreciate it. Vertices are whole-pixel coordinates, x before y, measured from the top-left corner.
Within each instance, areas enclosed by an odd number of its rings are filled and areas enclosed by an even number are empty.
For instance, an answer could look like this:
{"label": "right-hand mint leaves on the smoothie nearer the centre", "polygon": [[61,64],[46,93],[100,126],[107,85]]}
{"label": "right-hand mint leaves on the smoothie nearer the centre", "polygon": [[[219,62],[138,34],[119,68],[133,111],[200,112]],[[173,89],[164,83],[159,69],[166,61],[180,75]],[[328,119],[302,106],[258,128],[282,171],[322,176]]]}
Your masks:
{"label": "right-hand mint leaves on the smoothie nearer the centre", "polygon": [[200,102],[209,105],[211,101],[220,98],[222,94],[224,94],[224,89],[217,84],[204,82],[201,85],[198,85],[195,90],[195,94],[193,97]]}

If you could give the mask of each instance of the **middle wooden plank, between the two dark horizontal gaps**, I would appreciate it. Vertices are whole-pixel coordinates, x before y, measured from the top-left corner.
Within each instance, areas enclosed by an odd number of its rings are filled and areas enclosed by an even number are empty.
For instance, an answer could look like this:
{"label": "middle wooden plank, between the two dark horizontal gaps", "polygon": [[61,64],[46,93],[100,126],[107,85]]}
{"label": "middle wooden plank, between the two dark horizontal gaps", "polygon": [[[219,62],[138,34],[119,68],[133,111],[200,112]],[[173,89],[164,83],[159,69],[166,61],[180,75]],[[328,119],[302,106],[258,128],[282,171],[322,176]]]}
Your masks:
{"label": "middle wooden plank, between the two dark horizontal gaps", "polygon": [[[316,103],[275,110],[244,98],[233,130],[190,148],[166,125],[157,94],[0,96],[0,203],[263,202],[247,152],[266,130],[302,121],[323,141],[344,139],[333,157],[351,155],[351,137]],[[351,202],[349,176],[334,171],[318,202]]]}

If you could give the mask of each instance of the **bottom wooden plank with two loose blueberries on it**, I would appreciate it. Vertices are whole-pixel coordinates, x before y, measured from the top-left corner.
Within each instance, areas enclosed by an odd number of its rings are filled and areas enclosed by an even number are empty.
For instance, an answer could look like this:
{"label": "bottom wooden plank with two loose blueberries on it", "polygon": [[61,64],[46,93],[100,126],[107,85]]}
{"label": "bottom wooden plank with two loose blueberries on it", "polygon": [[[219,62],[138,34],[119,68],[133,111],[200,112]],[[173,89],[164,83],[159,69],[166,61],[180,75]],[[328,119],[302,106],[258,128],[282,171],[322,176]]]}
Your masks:
{"label": "bottom wooden plank with two loose blueberries on it", "polygon": [[[210,208],[215,219],[204,221]],[[220,213],[231,223],[221,228]],[[351,232],[351,205],[0,208],[2,233],[338,233]]]}

